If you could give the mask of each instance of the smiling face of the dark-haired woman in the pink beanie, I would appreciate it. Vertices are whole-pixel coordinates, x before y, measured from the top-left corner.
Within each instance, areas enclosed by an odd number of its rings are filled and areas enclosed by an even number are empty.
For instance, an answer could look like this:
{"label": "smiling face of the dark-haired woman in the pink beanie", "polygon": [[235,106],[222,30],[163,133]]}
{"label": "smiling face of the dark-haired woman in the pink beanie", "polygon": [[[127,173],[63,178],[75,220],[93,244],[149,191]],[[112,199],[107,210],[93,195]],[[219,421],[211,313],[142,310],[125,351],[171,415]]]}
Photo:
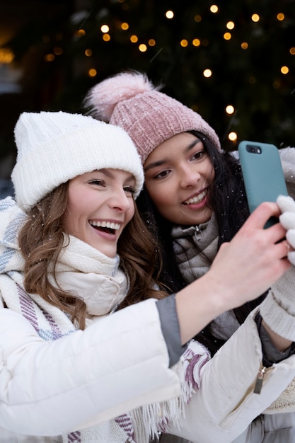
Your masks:
{"label": "smiling face of the dark-haired woman in the pink beanie", "polygon": [[188,132],[174,135],[149,154],[144,163],[146,190],[158,212],[174,224],[207,222],[214,167],[202,142]]}

